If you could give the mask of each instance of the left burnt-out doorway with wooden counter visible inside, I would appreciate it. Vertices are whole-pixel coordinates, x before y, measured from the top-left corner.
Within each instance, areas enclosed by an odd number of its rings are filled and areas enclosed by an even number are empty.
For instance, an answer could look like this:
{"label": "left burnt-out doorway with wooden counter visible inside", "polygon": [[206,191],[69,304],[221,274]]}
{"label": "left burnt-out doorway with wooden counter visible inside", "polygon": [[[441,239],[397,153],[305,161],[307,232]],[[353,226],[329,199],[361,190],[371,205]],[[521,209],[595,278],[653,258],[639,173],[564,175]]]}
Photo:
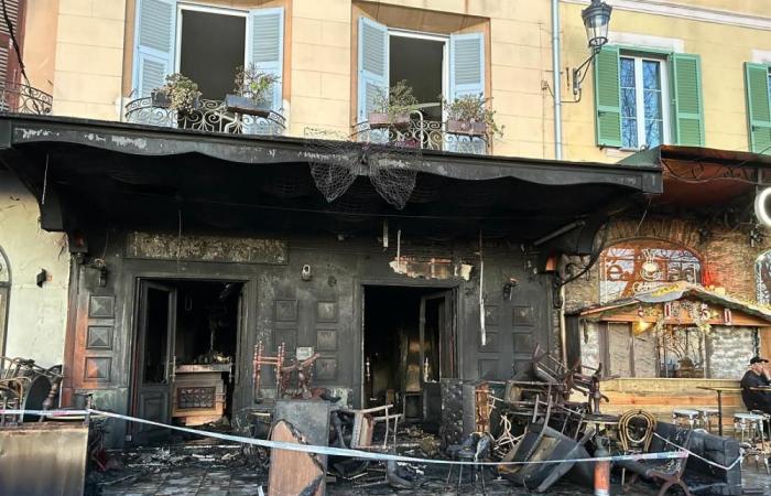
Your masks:
{"label": "left burnt-out doorway with wooden counter visible inside", "polygon": [[[184,425],[232,416],[242,288],[241,282],[140,280],[133,416]],[[138,443],[167,433],[135,425],[129,440]]]}

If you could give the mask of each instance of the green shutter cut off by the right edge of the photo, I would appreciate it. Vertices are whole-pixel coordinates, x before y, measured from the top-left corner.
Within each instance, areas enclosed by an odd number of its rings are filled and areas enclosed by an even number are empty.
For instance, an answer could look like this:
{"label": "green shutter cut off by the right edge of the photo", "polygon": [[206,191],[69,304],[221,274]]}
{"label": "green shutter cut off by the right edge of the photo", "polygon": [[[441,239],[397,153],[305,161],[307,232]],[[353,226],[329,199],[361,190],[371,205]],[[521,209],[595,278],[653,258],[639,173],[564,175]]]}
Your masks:
{"label": "green shutter cut off by the right edge of the photo", "polygon": [[771,80],[769,66],[745,63],[750,151],[771,153]]}

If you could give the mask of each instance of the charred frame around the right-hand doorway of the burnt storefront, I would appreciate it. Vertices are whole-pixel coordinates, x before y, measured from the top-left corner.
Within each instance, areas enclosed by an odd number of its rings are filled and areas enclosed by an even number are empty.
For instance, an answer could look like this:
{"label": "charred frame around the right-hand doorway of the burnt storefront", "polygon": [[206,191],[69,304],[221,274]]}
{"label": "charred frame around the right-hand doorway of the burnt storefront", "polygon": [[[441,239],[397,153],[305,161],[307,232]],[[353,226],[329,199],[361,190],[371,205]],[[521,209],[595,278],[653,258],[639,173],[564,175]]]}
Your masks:
{"label": "charred frame around the right-hand doorway of the burnt storefront", "polygon": [[[457,370],[458,376],[463,375],[463,353],[460,353],[460,346],[459,344],[463,342],[460,338],[460,335],[463,333],[461,331],[461,316],[463,316],[463,302],[464,299],[460,298],[460,288],[461,288],[461,282],[457,281],[426,281],[426,280],[403,280],[403,279],[359,279],[358,281],[355,282],[355,291],[358,291],[358,294],[354,294],[355,296],[355,309],[354,309],[354,322],[357,322],[357,325],[355,327],[356,335],[355,339],[356,342],[356,349],[359,351],[354,357],[355,364],[354,364],[354,369],[358,370],[358,374],[356,374],[354,387],[358,390],[358,395],[355,396],[354,401],[358,401],[357,408],[363,408],[365,405],[365,311],[366,311],[366,305],[365,305],[365,289],[366,287],[372,287],[372,285],[379,285],[379,287],[388,287],[388,288],[419,288],[419,289],[432,289],[435,290],[435,292],[441,292],[441,291],[452,291],[453,298],[454,299],[454,309],[453,309],[453,324],[455,326],[455,335],[456,335],[456,343],[455,343],[455,369]],[[434,293],[428,293],[434,294]],[[423,296],[425,296],[424,294]],[[421,296],[422,298],[422,296]],[[422,349],[421,349],[421,355],[422,355]],[[422,380],[421,380],[422,381]]]}

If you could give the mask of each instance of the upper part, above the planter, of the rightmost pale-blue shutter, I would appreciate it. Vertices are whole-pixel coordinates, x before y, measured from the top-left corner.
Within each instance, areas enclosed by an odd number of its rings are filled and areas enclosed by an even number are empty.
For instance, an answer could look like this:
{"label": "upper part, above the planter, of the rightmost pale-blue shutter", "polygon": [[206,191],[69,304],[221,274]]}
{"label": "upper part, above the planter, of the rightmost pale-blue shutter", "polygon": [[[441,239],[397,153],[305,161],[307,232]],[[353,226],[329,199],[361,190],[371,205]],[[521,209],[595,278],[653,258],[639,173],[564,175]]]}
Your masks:
{"label": "upper part, above the planter, of the rightmost pale-blue shutter", "polygon": [[465,95],[485,94],[485,35],[449,36],[449,95],[452,101]]}

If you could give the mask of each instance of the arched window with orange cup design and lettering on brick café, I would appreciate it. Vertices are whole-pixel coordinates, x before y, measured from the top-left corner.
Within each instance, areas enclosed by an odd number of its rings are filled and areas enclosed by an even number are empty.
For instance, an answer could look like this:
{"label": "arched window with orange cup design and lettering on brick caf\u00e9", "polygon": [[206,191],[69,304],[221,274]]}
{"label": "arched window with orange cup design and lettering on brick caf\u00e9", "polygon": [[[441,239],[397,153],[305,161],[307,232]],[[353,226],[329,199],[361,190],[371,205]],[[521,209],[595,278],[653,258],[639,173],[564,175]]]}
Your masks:
{"label": "arched window with orange cup design and lettering on brick caf\u00e9", "polygon": [[601,303],[629,298],[675,281],[702,283],[702,262],[693,251],[658,239],[613,245],[599,259]]}

